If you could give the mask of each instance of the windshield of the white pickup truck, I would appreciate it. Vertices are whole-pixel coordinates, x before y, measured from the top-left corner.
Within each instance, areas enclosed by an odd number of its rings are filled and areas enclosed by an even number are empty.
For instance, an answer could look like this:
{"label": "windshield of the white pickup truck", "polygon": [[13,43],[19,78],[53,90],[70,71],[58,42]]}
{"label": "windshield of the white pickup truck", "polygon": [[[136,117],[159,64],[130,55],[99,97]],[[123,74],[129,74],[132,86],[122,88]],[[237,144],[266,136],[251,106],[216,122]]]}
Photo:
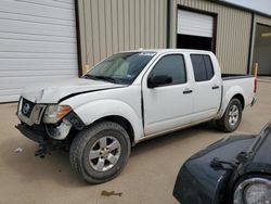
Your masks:
{"label": "windshield of the white pickup truck", "polygon": [[114,54],[94,66],[83,77],[130,85],[155,54],[155,52]]}

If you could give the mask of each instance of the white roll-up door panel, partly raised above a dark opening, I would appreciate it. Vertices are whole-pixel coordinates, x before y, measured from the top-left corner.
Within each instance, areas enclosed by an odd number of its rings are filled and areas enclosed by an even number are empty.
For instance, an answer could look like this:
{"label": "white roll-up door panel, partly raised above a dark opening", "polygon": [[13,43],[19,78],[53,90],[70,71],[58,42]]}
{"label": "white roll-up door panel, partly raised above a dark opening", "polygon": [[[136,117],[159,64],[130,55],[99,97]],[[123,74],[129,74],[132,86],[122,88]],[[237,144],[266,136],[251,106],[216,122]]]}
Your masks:
{"label": "white roll-up door panel, partly raised above a dark opening", "polygon": [[178,10],[178,34],[211,38],[212,29],[212,16]]}

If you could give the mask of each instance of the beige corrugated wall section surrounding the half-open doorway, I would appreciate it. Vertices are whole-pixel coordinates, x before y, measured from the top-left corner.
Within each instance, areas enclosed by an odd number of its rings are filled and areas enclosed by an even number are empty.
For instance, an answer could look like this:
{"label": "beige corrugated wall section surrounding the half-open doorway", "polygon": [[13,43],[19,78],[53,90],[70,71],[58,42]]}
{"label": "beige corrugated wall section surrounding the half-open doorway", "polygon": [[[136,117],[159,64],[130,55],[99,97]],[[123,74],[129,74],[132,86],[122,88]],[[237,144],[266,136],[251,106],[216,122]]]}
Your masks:
{"label": "beige corrugated wall section surrounding the half-open doorway", "polygon": [[216,54],[223,73],[246,73],[250,40],[251,14],[206,0],[173,0],[171,8],[171,47],[176,47],[178,4],[216,13]]}

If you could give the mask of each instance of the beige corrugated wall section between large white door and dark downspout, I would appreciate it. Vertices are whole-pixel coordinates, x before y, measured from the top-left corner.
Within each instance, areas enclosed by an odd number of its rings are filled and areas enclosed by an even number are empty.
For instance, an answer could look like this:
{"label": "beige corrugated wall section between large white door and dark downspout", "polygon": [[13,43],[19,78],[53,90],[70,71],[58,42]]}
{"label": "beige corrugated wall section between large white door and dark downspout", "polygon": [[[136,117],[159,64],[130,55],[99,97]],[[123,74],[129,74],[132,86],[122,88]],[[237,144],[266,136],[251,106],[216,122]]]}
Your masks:
{"label": "beige corrugated wall section between large white door and dark downspout", "polygon": [[166,48],[166,0],[78,0],[82,66],[112,53]]}

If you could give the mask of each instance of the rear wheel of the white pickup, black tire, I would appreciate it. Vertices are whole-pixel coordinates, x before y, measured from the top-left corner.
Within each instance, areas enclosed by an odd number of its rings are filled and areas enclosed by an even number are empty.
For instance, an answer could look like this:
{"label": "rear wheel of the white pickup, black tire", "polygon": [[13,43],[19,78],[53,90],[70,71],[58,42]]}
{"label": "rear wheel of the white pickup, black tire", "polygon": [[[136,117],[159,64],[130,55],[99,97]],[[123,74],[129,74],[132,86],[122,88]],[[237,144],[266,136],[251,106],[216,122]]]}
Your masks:
{"label": "rear wheel of the white pickup, black tire", "polygon": [[[231,110],[233,107],[236,107],[237,110],[237,118],[235,123],[230,123],[231,119]],[[242,119],[242,104],[238,99],[234,98],[230,101],[223,116],[217,120],[217,127],[219,130],[224,131],[224,132],[232,132],[236,130],[240,126],[241,119]]]}

